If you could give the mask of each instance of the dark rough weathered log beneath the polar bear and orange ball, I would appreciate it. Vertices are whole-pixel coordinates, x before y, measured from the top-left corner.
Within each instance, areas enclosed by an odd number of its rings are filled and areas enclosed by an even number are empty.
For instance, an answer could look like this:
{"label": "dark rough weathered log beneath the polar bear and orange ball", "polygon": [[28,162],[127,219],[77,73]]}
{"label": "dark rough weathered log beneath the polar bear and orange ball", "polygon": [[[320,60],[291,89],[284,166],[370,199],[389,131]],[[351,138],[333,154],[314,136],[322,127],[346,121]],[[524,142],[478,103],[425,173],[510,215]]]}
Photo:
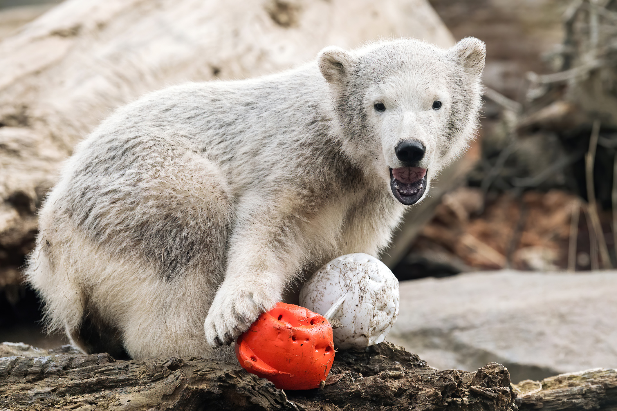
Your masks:
{"label": "dark rough weathered log beneath the polar bear and orange ball", "polygon": [[2,349],[24,354],[0,358],[2,410],[497,411],[512,409],[516,397],[502,365],[438,371],[390,343],[338,352],[323,388],[286,392],[237,364],[198,357],[122,361],[67,346]]}

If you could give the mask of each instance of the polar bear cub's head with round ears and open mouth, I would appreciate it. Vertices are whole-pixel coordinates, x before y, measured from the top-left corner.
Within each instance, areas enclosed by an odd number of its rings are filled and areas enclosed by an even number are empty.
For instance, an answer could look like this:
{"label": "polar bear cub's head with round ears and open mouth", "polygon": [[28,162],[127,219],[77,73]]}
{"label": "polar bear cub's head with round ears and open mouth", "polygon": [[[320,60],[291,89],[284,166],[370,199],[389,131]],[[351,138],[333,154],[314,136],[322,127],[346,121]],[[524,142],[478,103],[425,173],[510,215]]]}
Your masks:
{"label": "polar bear cub's head with round ears and open mouth", "polygon": [[431,177],[473,138],[485,55],[471,37],[447,50],[397,40],[320,52],[347,153],[376,171],[400,203],[423,198]]}

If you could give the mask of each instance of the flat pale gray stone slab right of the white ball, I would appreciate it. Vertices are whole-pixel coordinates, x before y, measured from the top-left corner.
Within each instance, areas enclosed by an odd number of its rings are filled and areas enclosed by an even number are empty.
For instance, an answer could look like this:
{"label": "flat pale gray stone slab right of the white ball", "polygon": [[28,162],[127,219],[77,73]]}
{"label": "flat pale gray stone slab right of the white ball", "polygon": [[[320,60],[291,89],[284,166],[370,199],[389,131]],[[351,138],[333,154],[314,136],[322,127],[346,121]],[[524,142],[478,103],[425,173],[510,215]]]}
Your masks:
{"label": "flat pale gray stone slab right of the white ball", "polygon": [[400,283],[387,341],[440,369],[505,365],[513,382],[617,368],[617,271],[497,271]]}

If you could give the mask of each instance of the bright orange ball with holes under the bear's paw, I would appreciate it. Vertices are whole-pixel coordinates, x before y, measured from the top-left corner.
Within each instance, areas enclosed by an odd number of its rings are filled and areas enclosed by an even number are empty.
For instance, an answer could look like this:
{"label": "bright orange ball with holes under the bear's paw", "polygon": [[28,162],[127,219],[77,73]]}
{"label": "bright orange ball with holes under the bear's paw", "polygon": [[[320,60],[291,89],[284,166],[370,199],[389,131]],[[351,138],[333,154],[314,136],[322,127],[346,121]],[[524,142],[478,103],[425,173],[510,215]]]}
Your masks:
{"label": "bright orange ball with holes under the bear's paw", "polygon": [[280,389],[318,388],[334,361],[328,320],[293,304],[277,303],[260,315],[235,348],[242,367]]}

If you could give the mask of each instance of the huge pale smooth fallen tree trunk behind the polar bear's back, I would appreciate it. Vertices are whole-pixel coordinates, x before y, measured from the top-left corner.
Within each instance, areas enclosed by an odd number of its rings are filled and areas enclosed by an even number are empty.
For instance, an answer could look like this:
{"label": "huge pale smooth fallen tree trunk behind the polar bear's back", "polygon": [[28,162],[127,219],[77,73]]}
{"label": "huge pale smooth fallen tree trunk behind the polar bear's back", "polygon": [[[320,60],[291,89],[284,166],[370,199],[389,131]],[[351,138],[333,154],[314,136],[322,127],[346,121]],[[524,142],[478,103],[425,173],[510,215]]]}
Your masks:
{"label": "huge pale smooth fallen tree trunk behind the polar bear's back", "polygon": [[[398,36],[453,44],[426,0],[67,0],[28,23],[0,43],[0,287],[19,283],[60,163],[116,107],[168,84],[268,74],[330,44]],[[414,213],[451,184],[437,182]]]}

